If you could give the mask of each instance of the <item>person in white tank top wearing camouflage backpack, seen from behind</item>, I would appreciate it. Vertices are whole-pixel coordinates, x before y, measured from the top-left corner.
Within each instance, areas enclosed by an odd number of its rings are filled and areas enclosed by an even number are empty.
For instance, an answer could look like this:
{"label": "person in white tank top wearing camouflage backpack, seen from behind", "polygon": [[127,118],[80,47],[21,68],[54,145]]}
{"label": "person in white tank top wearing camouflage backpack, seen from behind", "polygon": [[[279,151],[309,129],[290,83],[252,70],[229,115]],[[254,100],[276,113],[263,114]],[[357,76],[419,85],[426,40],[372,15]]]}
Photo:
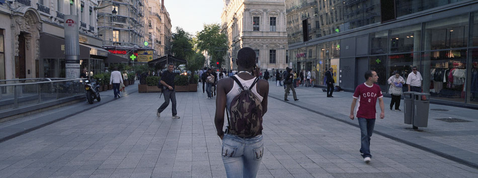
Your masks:
{"label": "person in white tank top wearing camouflage backpack, seen from behind", "polygon": [[262,117],[267,112],[269,83],[259,79],[252,48],[239,50],[236,64],[238,73],[217,83],[214,123],[222,139],[221,155],[227,177],[256,177],[264,155]]}

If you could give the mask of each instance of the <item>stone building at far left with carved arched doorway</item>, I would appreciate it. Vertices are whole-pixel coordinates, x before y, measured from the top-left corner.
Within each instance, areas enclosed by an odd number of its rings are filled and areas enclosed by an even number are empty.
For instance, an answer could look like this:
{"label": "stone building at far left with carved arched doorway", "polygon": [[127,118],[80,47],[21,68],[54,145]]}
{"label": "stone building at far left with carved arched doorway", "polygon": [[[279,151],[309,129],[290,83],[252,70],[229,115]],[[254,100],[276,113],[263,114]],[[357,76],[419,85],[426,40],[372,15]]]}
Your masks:
{"label": "stone building at far left with carved arched doorway", "polygon": [[[64,14],[74,11],[70,1],[17,0],[0,4],[0,79],[64,77]],[[96,30],[97,1],[82,1],[80,58],[106,58]],[[100,68],[93,66],[91,70]],[[90,68],[90,67],[88,67]]]}

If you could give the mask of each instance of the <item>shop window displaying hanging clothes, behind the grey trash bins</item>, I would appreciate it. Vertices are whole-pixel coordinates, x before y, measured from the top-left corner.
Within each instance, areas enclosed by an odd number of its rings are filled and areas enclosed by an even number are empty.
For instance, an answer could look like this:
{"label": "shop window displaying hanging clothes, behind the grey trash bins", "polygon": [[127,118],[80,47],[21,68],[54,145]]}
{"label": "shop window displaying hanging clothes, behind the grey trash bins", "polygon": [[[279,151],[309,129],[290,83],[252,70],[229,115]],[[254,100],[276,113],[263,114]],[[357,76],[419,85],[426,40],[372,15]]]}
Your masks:
{"label": "shop window displaying hanging clothes, behind the grey trash bins", "polygon": [[466,49],[424,52],[422,56],[423,91],[431,98],[464,102]]}

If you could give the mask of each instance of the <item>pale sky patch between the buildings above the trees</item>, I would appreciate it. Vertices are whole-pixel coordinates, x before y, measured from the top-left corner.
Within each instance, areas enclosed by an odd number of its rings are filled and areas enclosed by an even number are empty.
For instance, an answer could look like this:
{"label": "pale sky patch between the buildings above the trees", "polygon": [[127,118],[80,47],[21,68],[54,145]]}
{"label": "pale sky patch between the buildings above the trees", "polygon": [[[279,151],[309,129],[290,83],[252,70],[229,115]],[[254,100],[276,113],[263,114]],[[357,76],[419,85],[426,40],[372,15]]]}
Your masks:
{"label": "pale sky patch between the buildings above the trees", "polygon": [[222,0],[165,0],[173,33],[176,27],[196,35],[203,24],[221,23]]}

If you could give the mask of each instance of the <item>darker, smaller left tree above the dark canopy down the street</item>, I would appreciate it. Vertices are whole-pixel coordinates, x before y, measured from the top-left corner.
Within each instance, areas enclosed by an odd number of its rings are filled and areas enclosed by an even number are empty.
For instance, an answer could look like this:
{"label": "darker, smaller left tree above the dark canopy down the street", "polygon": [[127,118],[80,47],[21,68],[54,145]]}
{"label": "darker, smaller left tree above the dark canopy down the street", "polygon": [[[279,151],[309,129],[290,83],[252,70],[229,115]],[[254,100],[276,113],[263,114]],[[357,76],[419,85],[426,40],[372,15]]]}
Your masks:
{"label": "darker, smaller left tree above the dark canopy down the street", "polygon": [[176,32],[173,33],[173,42],[171,45],[173,55],[178,58],[187,60],[194,55],[191,34],[184,31],[181,27],[176,27]]}

